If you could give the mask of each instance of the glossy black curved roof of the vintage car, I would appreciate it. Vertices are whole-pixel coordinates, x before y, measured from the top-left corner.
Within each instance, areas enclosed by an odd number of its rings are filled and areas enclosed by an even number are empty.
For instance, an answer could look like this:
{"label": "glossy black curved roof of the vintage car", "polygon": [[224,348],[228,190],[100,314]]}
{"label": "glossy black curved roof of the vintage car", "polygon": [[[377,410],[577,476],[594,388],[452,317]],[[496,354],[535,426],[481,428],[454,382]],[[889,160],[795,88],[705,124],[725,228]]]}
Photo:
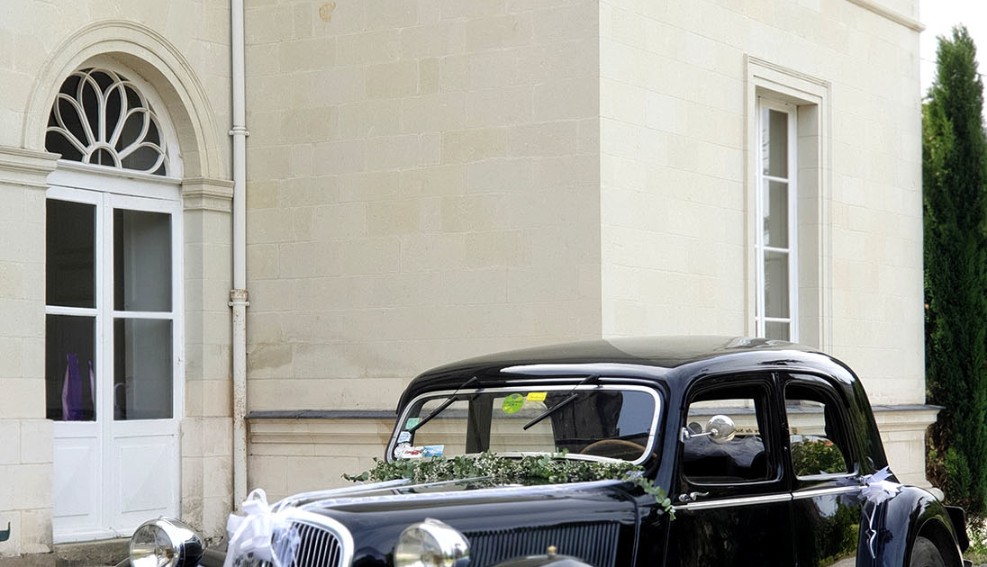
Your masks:
{"label": "glossy black curved roof of the vintage car", "polygon": [[456,389],[472,377],[483,386],[593,374],[682,382],[717,368],[742,371],[766,365],[824,368],[844,375],[841,378],[853,376],[839,361],[788,341],[744,336],[622,337],[497,352],[433,368],[412,381],[399,406],[421,391]]}

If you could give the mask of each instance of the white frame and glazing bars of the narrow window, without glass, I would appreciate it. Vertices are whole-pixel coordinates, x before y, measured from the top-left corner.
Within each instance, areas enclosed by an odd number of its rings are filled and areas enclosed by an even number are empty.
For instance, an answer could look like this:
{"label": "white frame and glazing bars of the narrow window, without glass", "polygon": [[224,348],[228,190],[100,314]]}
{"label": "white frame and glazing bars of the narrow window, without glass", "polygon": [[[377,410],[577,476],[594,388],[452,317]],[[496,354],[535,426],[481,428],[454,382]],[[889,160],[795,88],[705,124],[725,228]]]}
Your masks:
{"label": "white frame and glazing bars of the narrow window, without glass", "polygon": [[[789,177],[773,177],[764,173],[764,144],[762,140],[764,110],[771,109],[785,112],[788,115],[788,172]],[[756,257],[756,311],[755,326],[757,336],[767,336],[768,322],[784,322],[789,324],[789,339],[798,342],[798,137],[797,137],[797,106],[780,101],[775,101],[765,97],[757,99],[756,132],[757,144],[755,145],[757,157],[755,160],[755,192],[756,192],[756,212],[755,219],[758,223],[755,230],[755,257]],[[764,242],[764,230],[760,223],[764,219],[764,199],[765,181],[785,182],[788,187],[788,248],[769,247]],[[767,306],[765,299],[765,273],[764,263],[767,252],[783,252],[788,254],[788,292],[789,292],[789,317],[772,318],[767,317]]]}

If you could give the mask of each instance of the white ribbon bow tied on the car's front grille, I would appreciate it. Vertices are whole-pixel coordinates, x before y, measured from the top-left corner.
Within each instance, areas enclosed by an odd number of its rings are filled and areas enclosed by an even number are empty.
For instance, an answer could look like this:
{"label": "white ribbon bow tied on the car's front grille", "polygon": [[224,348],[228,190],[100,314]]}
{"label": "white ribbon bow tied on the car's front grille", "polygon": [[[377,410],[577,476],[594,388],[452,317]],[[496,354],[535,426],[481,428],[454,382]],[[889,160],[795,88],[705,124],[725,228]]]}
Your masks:
{"label": "white ribbon bow tied on the car's front grille", "polygon": [[223,567],[234,567],[237,559],[253,554],[255,559],[269,561],[273,567],[289,567],[301,538],[291,525],[295,508],[273,512],[267,495],[255,489],[243,503],[244,515],[231,514],[226,521],[229,547]]}

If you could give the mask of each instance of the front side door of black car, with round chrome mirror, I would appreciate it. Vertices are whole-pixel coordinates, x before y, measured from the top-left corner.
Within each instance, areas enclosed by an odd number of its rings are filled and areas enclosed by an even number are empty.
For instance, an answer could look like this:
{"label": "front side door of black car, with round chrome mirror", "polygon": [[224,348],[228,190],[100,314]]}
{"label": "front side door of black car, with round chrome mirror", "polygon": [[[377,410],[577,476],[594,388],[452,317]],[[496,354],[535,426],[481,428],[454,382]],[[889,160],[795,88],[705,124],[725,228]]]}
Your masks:
{"label": "front side door of black car, with round chrome mirror", "polygon": [[708,378],[687,393],[683,427],[698,432],[724,415],[735,433],[726,442],[680,434],[669,565],[796,564],[781,407],[775,377],[767,373]]}

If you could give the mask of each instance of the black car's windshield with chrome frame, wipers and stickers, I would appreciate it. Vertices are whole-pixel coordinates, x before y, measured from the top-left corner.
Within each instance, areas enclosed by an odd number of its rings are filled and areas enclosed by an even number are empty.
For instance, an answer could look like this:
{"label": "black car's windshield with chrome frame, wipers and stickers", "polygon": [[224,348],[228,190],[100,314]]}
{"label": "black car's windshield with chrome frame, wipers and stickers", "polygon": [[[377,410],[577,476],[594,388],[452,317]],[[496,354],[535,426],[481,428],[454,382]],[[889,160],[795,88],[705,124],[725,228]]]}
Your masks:
{"label": "black car's windshield with chrome frame, wipers and stickers", "polygon": [[[450,397],[451,403],[446,405]],[[653,390],[616,385],[423,394],[402,413],[388,457],[566,451],[575,459],[643,462],[652,451],[658,399]],[[444,409],[426,419],[443,405]],[[532,424],[549,410],[553,411]]]}

